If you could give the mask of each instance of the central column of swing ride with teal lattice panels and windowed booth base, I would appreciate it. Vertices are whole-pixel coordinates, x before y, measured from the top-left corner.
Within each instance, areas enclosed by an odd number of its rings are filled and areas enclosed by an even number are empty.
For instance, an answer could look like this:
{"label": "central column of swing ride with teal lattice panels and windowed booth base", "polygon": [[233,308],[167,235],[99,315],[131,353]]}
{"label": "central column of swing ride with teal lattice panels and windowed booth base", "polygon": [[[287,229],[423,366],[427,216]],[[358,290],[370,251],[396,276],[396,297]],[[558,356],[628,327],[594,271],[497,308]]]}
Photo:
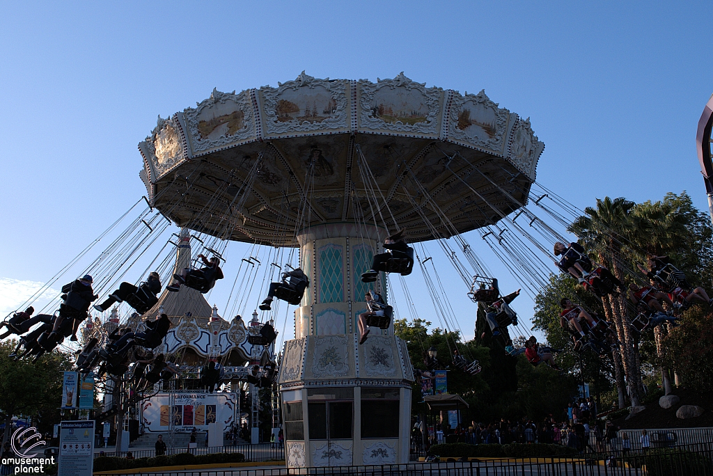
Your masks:
{"label": "central column of swing ride with teal lattice panels and windowed booth base", "polygon": [[[380,232],[380,233],[379,233]],[[326,224],[300,234],[309,288],[279,373],[288,467],[409,461],[413,368],[394,323],[359,344],[366,291],[386,300],[384,274],[362,283],[386,230]]]}

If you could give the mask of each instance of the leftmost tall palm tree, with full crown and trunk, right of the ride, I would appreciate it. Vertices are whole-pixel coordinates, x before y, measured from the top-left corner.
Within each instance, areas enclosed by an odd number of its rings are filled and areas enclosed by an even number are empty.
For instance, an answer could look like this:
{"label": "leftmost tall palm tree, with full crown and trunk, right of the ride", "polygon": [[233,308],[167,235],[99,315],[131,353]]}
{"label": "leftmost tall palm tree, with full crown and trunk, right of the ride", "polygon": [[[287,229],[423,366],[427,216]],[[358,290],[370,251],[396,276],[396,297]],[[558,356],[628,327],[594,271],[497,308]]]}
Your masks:
{"label": "leftmost tall palm tree, with full crown and trunk, right of the ride", "polygon": [[[570,226],[570,232],[580,237],[580,243],[595,253],[598,261],[610,264],[610,270],[622,282],[625,280],[625,269],[629,268],[623,257],[630,256],[632,252],[630,236],[638,224],[637,217],[631,213],[635,205],[635,202],[623,197],[614,200],[610,197],[597,199],[597,207],[585,208],[585,214]],[[638,406],[643,383],[638,365],[638,345],[630,331],[626,296],[607,295],[602,299],[602,304],[607,320],[615,323],[620,343],[618,350],[629,384],[629,397],[632,406]],[[617,386],[621,384],[617,380]]]}

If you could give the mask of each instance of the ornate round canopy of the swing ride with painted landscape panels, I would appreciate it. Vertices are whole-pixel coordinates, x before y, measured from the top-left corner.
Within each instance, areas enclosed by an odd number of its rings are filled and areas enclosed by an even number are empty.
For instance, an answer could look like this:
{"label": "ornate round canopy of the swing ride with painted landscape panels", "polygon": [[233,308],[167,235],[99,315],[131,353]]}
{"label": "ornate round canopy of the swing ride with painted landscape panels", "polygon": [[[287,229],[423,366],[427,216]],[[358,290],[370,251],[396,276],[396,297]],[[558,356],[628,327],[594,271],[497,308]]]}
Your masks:
{"label": "ornate round canopy of the swing ride with painted landscape panels", "polygon": [[[403,73],[372,83],[303,72],[278,85],[214,89],[195,108],[159,117],[139,144],[153,205],[182,227],[296,246],[296,227],[356,220],[389,229],[395,220],[409,241],[433,239],[422,214],[448,237],[442,217],[462,233],[497,222],[491,205],[517,209],[508,194],[527,200],[545,146],[529,119],[484,91],[426,88]],[[304,197],[309,223],[297,224]]]}

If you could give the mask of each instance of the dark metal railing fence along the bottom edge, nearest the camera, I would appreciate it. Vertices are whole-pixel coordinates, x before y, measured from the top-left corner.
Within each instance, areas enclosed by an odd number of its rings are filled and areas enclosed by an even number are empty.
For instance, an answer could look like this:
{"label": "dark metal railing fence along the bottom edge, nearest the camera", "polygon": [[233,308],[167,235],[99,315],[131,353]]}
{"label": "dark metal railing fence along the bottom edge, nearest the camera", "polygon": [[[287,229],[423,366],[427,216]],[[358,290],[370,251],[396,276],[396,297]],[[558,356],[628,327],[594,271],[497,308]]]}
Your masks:
{"label": "dark metal railing fence along the bottom edge, nearest the camera", "polygon": [[[711,476],[713,450],[687,445],[657,450],[538,457],[316,468],[212,469],[171,472],[134,470],[135,476]],[[118,476],[118,473],[117,475]]]}

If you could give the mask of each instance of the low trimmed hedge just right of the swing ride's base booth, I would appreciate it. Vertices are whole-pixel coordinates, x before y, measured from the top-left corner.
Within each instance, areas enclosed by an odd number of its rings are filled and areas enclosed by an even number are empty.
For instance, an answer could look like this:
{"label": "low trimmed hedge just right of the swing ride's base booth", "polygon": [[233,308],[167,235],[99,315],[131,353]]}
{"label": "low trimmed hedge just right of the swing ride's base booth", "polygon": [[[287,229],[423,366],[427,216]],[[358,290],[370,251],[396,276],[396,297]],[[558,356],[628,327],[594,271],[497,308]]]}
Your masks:
{"label": "low trimmed hedge just right of the swing ride's base booth", "polygon": [[509,443],[508,445],[469,445],[468,443],[444,443],[431,446],[429,455],[440,457],[540,457],[575,455],[577,450],[562,445],[545,443]]}

